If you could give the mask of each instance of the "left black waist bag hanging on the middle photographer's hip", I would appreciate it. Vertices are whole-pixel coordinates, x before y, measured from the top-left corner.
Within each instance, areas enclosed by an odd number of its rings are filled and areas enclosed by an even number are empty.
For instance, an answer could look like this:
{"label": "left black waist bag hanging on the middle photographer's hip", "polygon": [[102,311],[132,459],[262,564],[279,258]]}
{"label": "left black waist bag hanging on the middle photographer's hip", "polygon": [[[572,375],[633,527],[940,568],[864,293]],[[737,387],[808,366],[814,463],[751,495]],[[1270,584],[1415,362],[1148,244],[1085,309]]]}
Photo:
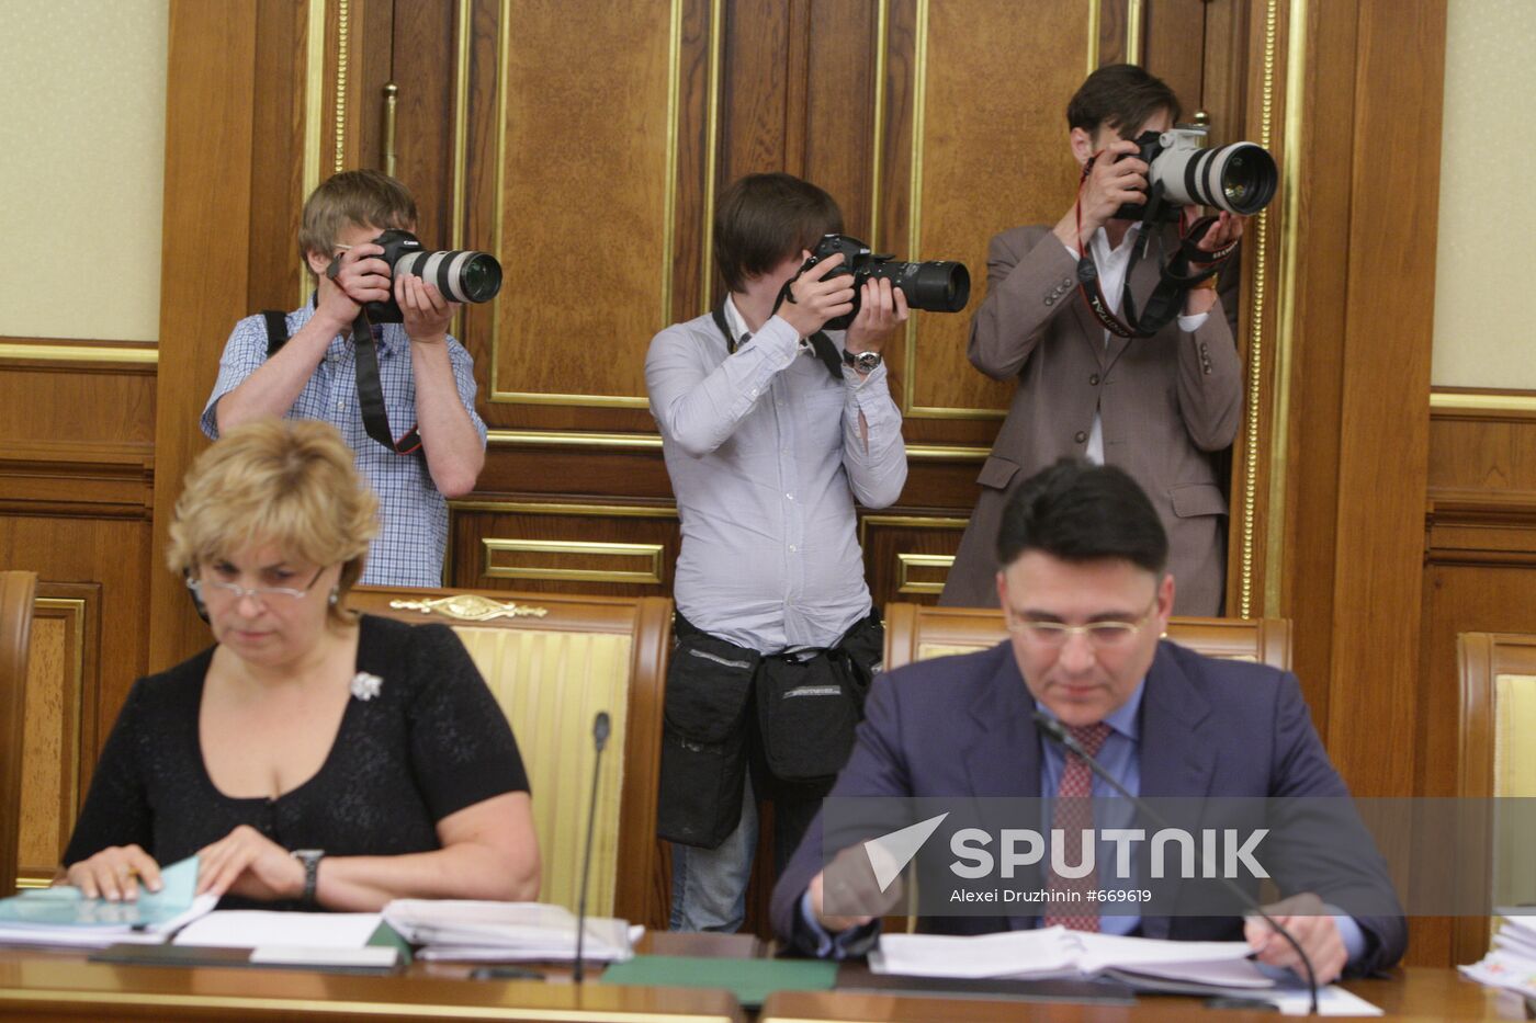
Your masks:
{"label": "left black waist bag hanging on the middle photographer's hip", "polygon": [[687,627],[667,665],[656,833],[717,848],[742,817],[746,717],[762,656]]}

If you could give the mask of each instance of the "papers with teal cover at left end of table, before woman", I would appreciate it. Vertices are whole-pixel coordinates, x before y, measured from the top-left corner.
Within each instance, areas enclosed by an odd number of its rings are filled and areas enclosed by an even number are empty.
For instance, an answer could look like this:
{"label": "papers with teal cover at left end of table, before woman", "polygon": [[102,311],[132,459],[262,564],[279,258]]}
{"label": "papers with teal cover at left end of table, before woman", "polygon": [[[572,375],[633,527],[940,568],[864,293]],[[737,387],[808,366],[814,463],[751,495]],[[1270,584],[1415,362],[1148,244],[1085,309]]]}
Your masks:
{"label": "papers with teal cover at left end of table, before woman", "polygon": [[38,888],[0,899],[0,943],[68,945],[158,945],[181,926],[207,914],[218,896],[195,896],[197,857],[160,871],[157,892],[140,888],[132,902],[86,899],[78,888]]}

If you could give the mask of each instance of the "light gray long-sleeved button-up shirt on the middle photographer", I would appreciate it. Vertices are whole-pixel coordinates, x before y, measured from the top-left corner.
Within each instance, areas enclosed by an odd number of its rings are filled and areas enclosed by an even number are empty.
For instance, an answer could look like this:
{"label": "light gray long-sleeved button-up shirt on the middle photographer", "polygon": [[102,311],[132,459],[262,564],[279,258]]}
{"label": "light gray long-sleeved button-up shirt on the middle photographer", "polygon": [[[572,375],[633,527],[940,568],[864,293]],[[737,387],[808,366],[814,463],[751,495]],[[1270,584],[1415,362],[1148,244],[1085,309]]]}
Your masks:
{"label": "light gray long-sleeved button-up shirt on the middle photographer", "polygon": [[[745,333],[730,301],[727,319]],[[836,644],[869,613],[854,498],[906,484],[886,367],[834,379],[779,316],[727,355],[705,315],[656,335],[645,384],[682,519],[677,610],[760,653]]]}

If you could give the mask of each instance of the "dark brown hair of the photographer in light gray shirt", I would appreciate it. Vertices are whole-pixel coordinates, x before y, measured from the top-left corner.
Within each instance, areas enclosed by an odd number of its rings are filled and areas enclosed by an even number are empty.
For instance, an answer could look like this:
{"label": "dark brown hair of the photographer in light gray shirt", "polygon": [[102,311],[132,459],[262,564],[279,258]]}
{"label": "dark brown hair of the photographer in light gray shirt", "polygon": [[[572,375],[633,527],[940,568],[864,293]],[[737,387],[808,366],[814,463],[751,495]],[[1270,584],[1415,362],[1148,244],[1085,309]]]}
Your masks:
{"label": "dark brown hair of the photographer in light gray shirt", "polygon": [[714,264],[733,292],[825,233],[840,233],[837,201],[793,174],[748,174],[720,194],[714,207]]}

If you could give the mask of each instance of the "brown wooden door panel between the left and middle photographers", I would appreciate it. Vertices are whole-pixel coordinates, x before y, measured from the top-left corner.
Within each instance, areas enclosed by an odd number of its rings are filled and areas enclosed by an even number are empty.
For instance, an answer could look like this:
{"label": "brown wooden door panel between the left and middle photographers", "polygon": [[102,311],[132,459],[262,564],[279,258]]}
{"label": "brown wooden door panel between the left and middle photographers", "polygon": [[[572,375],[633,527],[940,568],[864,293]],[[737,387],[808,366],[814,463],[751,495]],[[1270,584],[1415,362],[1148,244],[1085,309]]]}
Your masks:
{"label": "brown wooden door panel between the left and middle photographers", "polygon": [[644,406],[671,312],[674,5],[513,6],[501,232],[535,272],[502,287],[490,399]]}

